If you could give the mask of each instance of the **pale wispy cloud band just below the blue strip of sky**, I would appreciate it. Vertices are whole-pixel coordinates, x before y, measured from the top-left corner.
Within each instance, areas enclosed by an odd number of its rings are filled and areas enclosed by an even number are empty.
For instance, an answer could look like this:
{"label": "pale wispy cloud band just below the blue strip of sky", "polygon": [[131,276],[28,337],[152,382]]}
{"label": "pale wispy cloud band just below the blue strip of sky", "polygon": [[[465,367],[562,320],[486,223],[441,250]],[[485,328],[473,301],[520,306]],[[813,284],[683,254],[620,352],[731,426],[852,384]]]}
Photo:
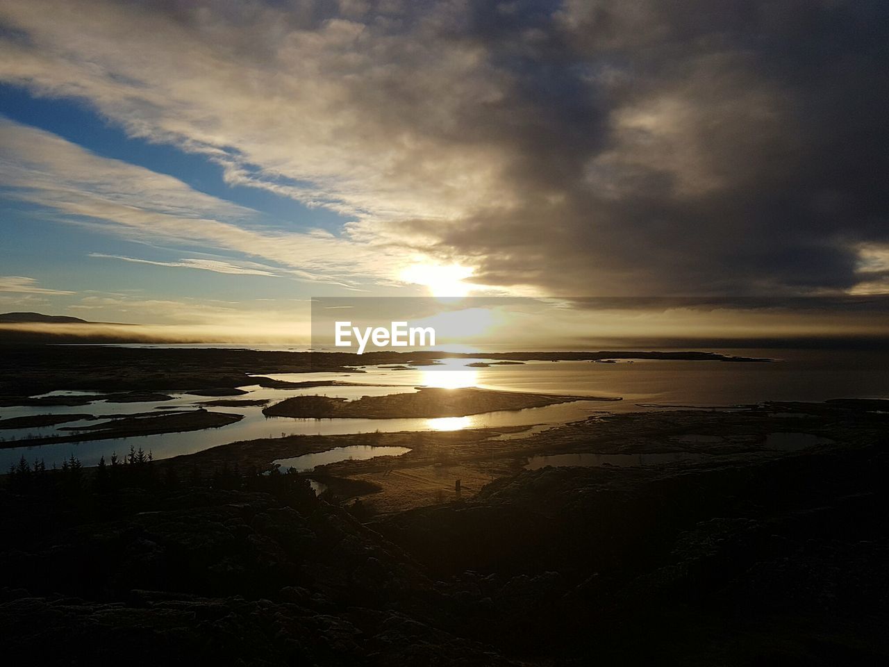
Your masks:
{"label": "pale wispy cloud band just below the blue strip of sky", "polygon": [[[6,197],[41,205],[60,221],[149,244],[240,253],[274,262],[281,267],[280,275],[302,280],[354,287],[356,278],[391,280],[403,263],[403,255],[395,250],[348,235],[267,229],[252,209],[198,192],[172,176],[96,156],[52,133],[2,117],[0,181]],[[169,265],[275,275],[256,262],[193,259]]]}

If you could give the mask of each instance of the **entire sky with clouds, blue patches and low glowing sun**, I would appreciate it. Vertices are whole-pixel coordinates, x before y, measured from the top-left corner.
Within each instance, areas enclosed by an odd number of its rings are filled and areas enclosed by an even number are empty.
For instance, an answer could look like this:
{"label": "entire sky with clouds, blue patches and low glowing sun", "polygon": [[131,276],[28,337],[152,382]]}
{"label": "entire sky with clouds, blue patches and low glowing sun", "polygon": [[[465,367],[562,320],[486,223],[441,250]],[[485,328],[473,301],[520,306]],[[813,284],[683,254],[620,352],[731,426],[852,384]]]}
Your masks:
{"label": "entire sky with clouds, blue patches and low glowing sun", "polygon": [[880,0],[4,0],[0,311],[878,298],[887,33]]}

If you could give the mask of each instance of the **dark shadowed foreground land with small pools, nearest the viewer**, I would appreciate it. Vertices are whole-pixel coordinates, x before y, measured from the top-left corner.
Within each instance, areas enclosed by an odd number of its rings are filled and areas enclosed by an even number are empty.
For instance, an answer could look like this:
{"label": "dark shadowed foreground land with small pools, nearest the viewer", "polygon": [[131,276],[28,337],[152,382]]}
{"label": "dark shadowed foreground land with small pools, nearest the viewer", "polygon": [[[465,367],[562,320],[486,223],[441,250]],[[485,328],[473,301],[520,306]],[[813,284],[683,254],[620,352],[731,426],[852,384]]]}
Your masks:
{"label": "dark shadowed foreground land with small pools, nearest the viewer", "polygon": [[[21,471],[0,491],[4,658],[886,663],[885,408],[621,414],[528,438],[274,438]],[[411,452],[316,470],[331,484],[320,498],[303,476],[256,474],[356,443]],[[581,452],[696,457],[525,470]],[[435,470],[449,494],[422,481]],[[453,479],[473,470],[486,481],[458,497]]]}

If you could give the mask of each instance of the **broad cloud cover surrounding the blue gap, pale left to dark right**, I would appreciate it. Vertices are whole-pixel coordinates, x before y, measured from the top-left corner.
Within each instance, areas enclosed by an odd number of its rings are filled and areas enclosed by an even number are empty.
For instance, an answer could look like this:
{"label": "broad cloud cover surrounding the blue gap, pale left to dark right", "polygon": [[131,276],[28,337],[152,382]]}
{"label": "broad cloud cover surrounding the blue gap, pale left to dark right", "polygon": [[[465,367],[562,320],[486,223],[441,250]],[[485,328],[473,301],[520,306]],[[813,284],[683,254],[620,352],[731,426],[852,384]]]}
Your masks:
{"label": "broad cloud cover surrounding the blue gap, pale left to dark right", "polygon": [[862,245],[889,243],[878,0],[6,0],[0,20],[0,79],[352,218],[276,237],[156,174],[135,205],[52,151],[31,172],[52,182],[13,174],[131,234],[563,295],[845,293]]}

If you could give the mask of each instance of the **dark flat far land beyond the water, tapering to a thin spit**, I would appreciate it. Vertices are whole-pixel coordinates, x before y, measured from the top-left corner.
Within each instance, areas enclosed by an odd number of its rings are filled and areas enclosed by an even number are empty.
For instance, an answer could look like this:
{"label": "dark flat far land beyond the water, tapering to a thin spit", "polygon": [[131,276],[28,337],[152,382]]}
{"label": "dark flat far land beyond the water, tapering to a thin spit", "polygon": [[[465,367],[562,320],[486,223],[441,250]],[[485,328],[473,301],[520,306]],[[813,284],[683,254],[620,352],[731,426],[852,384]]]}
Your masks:
{"label": "dark flat far land beyond the water, tapering to a thin spit", "polygon": [[[336,382],[284,382],[261,377],[281,373],[361,373],[361,366],[429,366],[441,358],[477,358],[453,352],[273,352],[228,349],[126,348],[100,345],[4,345],[0,355],[0,406],[84,405],[89,397],[32,398],[52,390],[94,390],[124,398],[126,392],[184,391],[232,396],[236,388],[306,387]],[[686,359],[701,362],[767,362],[714,352],[496,352],[500,361]],[[258,377],[257,377],[258,376]],[[77,402],[79,401],[81,402]],[[155,398],[154,400],[162,400]],[[138,398],[131,398],[138,400]],[[68,401],[68,402],[62,402]]]}

